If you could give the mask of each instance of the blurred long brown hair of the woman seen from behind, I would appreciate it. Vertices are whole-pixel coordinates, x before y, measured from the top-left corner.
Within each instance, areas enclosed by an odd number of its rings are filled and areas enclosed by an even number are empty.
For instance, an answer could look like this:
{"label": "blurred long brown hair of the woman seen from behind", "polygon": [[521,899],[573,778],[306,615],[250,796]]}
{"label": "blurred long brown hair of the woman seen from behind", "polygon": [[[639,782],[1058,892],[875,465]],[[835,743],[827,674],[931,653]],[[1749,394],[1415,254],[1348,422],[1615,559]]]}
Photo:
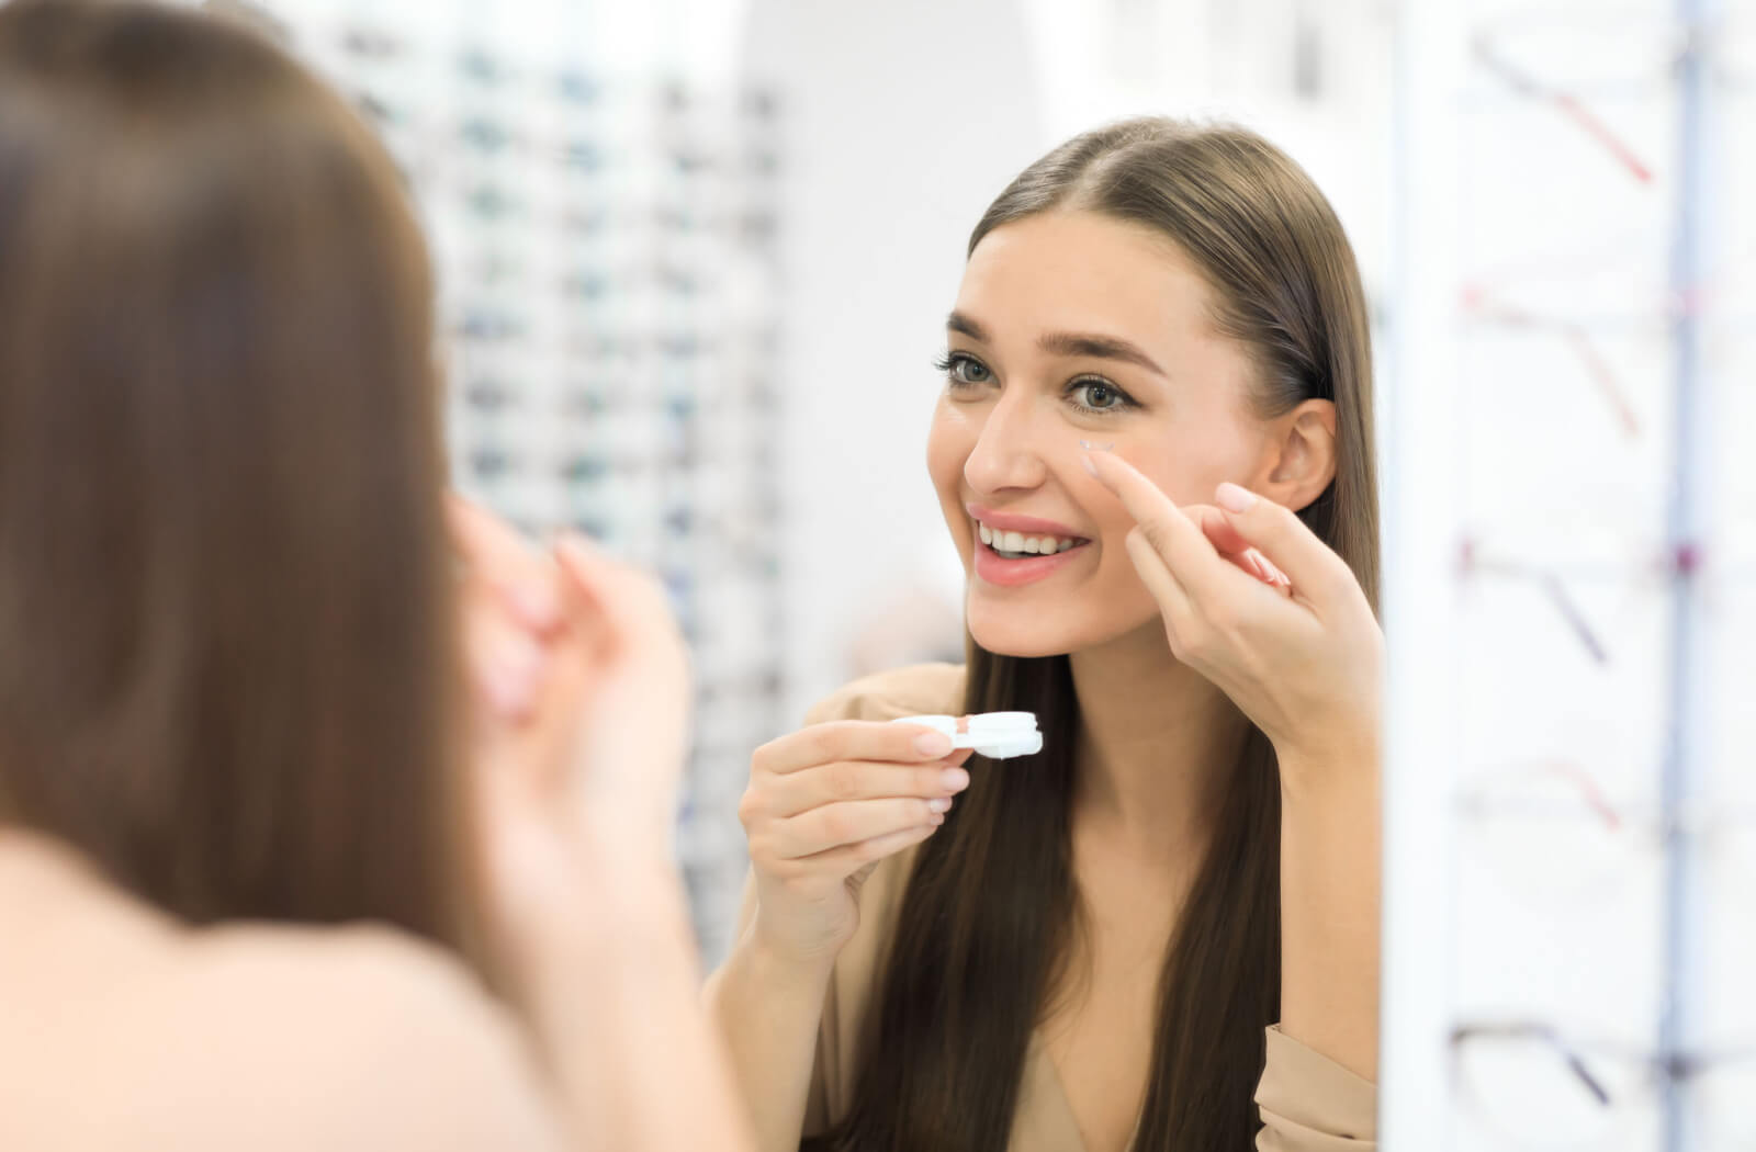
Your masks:
{"label": "blurred long brown hair of the woman seen from behind", "polygon": [[0,822],[467,948],[425,246],[242,26],[0,7]]}

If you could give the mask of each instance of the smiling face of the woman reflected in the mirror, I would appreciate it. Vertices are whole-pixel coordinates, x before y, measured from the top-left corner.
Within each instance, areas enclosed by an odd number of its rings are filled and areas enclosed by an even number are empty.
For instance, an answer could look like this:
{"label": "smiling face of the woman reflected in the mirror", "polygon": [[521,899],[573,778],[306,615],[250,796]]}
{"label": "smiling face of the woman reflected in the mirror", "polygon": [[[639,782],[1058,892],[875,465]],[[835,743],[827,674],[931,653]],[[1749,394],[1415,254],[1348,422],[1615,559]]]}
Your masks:
{"label": "smiling face of the woman reflected in the mirror", "polygon": [[1226,479],[1263,490],[1275,432],[1250,413],[1250,362],[1213,332],[1208,299],[1168,239],[1092,212],[1013,221],[971,253],[927,467],[989,652],[1157,627],[1124,546],[1133,520],[1080,441],[1113,446],[1178,504],[1212,502]]}

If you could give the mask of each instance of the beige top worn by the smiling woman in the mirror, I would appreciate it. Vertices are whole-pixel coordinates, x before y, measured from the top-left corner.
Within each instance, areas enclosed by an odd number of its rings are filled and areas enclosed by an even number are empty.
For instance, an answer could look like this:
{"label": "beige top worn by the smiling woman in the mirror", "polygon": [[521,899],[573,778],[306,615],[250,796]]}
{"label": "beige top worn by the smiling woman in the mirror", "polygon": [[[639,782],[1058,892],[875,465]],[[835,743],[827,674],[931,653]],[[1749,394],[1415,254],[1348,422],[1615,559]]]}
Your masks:
{"label": "beige top worn by the smiling woman in the mirror", "polygon": [[[962,709],[962,688],[961,666],[904,667],[848,685],[813,708],[808,722],[957,713]],[[860,927],[836,959],[824,1004],[806,1134],[824,1131],[852,1105],[855,1038],[913,862],[913,848],[890,857],[873,869],[860,889]],[[1256,1103],[1264,1124],[1256,1138],[1259,1152],[1361,1152],[1377,1147],[1377,1087],[1278,1027],[1268,1029],[1268,1059]],[[1041,1038],[1033,1041],[1026,1057],[1010,1152],[1083,1152],[1078,1124]]]}

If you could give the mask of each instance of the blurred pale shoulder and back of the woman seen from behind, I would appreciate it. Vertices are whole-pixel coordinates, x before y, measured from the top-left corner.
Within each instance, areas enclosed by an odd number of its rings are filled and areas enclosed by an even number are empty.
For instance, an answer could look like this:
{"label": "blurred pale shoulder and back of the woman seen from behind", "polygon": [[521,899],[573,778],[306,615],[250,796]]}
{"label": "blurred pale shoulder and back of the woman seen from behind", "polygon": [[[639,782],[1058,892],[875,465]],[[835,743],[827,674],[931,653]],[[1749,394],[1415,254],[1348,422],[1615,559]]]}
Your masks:
{"label": "blurred pale shoulder and back of the woman seen from behind", "polygon": [[523,1031],[434,945],[191,929],[67,852],[0,852],[0,889],[53,910],[0,964],[4,1148],[557,1147]]}

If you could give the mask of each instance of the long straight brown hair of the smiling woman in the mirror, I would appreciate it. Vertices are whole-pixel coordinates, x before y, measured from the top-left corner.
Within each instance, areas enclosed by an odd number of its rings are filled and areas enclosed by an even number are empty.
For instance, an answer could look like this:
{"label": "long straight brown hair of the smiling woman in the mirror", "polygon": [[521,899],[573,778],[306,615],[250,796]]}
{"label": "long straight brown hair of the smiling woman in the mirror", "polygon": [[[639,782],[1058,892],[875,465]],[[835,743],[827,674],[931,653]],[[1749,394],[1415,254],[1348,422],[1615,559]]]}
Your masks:
{"label": "long straight brown hair of the smiling woman in the mirror", "polygon": [[[1377,602],[1378,504],[1364,292],[1342,225],[1292,160],[1231,126],[1136,119],[1080,135],[1020,174],[969,239],[1048,211],[1089,211],[1175,241],[1206,276],[1215,328],[1254,358],[1259,414],[1336,407],[1336,476],[1301,511]],[[975,773],[918,852],[867,1022],[853,1105],[827,1140],[850,1152],[1001,1152],[1031,1033],[1078,931],[1068,657],[969,643],[966,711],[1036,711],[1043,753]],[[1166,950],[1134,1148],[1252,1147],[1263,1029],[1280,1015],[1280,787],[1250,729],[1206,859]]]}

